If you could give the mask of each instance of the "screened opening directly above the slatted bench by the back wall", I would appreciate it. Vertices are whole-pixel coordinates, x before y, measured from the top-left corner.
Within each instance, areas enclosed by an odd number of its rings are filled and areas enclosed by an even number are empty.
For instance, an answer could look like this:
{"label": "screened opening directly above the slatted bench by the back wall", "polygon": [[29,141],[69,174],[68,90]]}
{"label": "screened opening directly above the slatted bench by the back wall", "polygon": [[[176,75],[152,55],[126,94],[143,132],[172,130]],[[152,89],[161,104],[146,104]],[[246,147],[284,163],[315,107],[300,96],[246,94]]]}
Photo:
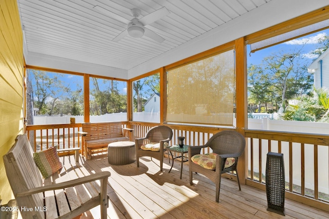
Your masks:
{"label": "screened opening directly above the slatted bench by the back wall", "polygon": [[127,120],[127,83],[106,78],[89,79],[90,122]]}

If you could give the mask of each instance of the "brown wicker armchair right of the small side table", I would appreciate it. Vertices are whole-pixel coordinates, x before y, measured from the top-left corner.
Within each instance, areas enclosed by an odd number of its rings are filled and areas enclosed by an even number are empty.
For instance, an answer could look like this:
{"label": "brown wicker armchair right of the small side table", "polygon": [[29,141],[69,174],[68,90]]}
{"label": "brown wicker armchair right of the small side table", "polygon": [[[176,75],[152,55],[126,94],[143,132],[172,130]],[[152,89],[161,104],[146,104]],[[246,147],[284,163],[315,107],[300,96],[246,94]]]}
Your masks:
{"label": "brown wicker armchair right of the small side table", "polygon": [[[221,131],[214,134],[209,141],[203,146],[190,146],[189,147],[189,173],[190,173],[190,184],[193,185],[192,182],[192,172],[200,173],[209,178],[216,185],[216,202],[220,200],[220,188],[221,188],[221,174],[235,171],[237,183],[240,187],[239,176],[237,175],[236,167],[237,167],[237,159],[244,152],[245,149],[245,138],[242,134],[236,131]],[[200,154],[202,148],[210,147],[213,153],[216,153],[215,159],[215,169],[206,169],[199,164],[192,162],[192,156],[196,154]],[[227,168],[225,167],[225,163],[227,158],[233,157],[235,159],[235,163]]]}

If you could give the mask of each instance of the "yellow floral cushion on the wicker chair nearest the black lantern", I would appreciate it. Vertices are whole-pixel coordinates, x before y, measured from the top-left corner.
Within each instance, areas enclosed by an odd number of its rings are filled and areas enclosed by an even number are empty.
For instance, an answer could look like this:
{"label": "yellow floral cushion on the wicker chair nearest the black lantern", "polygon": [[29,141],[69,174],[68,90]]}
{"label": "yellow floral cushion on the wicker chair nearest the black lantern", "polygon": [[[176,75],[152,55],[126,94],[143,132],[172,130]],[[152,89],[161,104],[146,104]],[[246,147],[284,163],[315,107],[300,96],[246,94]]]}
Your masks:
{"label": "yellow floral cushion on the wicker chair nearest the black lantern", "polygon": [[[207,153],[207,154],[196,154],[192,156],[191,161],[195,164],[198,164],[206,169],[214,170],[216,169],[216,153]],[[234,157],[228,157],[225,162],[225,168],[232,166],[235,163]]]}

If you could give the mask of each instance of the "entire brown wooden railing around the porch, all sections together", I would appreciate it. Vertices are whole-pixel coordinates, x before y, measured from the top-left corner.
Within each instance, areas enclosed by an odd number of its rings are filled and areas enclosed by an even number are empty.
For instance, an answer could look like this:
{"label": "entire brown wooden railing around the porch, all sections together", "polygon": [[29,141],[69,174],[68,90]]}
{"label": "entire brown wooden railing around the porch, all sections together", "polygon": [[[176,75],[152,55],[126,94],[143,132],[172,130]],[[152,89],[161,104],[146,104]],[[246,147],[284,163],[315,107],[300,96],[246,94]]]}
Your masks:
{"label": "entire brown wooden railing around the porch, all sections together", "polygon": [[[156,123],[122,122],[132,128],[134,141],[143,137]],[[168,125],[173,130],[171,145],[178,136],[185,136],[187,145],[204,145],[216,132],[225,130],[213,127]],[[27,126],[28,136],[35,136],[34,151],[51,145],[81,147],[81,124]],[[75,136],[74,138],[68,136]],[[247,159],[244,164],[249,174],[244,183],[265,190],[265,166],[267,152],[284,154],[286,173],[286,197],[327,210],[329,208],[329,135],[245,130]],[[209,150],[205,149],[203,153]],[[311,179],[311,180],[310,180]]]}

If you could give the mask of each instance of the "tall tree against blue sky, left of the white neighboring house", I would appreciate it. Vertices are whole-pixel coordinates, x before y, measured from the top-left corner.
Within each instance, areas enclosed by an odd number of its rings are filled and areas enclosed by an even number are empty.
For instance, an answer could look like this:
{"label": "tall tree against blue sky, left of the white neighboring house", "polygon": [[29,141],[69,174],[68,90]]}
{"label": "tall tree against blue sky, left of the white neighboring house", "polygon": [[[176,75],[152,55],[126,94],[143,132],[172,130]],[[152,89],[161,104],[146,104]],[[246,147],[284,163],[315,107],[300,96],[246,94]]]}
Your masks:
{"label": "tall tree against blue sky, left of the white neighboring house", "polygon": [[303,45],[295,50],[279,51],[264,57],[261,65],[248,68],[248,91],[259,103],[271,101],[286,107],[287,99],[312,89],[313,75],[302,55]]}

